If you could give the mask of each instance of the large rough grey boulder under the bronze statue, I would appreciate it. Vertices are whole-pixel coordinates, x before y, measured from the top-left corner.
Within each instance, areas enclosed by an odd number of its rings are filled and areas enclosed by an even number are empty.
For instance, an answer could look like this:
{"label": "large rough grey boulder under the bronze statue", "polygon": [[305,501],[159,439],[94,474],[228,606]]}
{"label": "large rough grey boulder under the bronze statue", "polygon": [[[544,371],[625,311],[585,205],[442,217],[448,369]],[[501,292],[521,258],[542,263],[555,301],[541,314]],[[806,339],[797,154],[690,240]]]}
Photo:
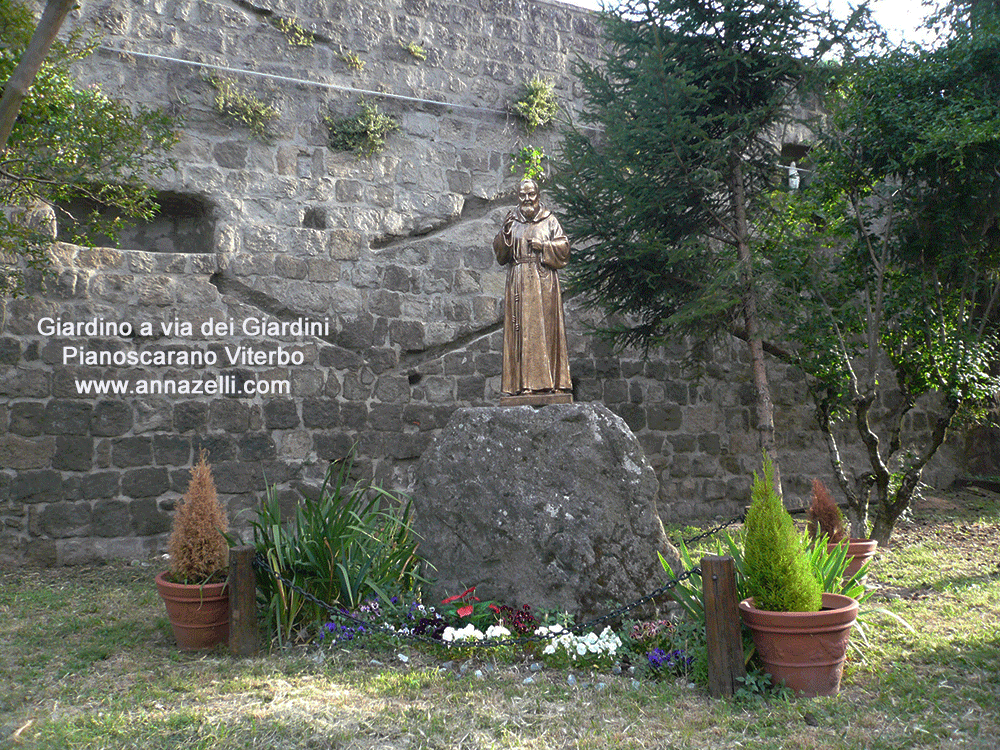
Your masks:
{"label": "large rough grey boulder under the bronze statue", "polygon": [[420,554],[438,598],[604,614],[679,570],[656,475],[601,404],[459,409],[417,465]]}

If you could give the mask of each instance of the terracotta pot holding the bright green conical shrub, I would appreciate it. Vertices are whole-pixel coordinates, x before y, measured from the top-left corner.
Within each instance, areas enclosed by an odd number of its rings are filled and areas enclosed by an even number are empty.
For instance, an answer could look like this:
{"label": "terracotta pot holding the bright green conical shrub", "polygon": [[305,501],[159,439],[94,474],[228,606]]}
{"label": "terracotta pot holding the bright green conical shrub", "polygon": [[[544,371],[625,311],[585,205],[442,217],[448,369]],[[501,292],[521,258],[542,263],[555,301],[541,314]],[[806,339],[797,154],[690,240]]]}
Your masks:
{"label": "terracotta pot holding the bright green conical shrub", "polygon": [[772,681],[796,695],[836,695],[847,657],[847,642],[858,616],[849,596],[823,594],[819,612],[769,612],[740,602],[740,617]]}

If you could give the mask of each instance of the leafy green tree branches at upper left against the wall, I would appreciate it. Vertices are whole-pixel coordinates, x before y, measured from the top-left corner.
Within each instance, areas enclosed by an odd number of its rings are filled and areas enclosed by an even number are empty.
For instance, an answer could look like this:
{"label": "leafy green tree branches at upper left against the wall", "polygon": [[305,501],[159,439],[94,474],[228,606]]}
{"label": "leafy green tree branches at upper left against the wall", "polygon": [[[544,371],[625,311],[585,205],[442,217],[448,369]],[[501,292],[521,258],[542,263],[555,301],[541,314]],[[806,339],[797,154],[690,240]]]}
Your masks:
{"label": "leafy green tree branches at upper left against the wall", "polygon": [[[50,10],[65,16],[66,5],[52,0],[33,35],[35,21],[27,6],[0,0],[0,80],[6,81],[0,135],[10,128],[0,150],[0,205],[5,207],[0,213],[0,294],[23,293],[26,270],[49,265],[51,227],[40,228],[26,215],[47,206],[77,242],[114,238],[127,219],[154,215],[154,194],[143,180],[171,164],[166,152],[176,135],[166,114],[130,107],[96,86],[75,84],[71,65],[90,55],[97,42],[79,29],[66,41],[53,41],[62,18]],[[40,36],[46,37],[44,43]],[[60,209],[71,201],[84,201],[94,211],[76,220]]]}

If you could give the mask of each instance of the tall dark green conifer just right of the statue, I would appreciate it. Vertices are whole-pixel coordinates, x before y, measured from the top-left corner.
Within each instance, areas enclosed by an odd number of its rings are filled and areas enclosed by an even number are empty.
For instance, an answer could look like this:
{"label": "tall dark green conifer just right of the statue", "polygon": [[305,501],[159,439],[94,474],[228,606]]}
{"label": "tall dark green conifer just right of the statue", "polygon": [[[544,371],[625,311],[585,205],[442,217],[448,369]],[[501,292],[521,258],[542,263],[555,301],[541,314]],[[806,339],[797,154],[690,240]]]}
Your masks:
{"label": "tall dark green conifer just right of the statue", "polygon": [[620,345],[745,340],[774,455],[754,219],[782,176],[775,128],[844,29],[797,0],[631,0],[603,21],[605,56],[577,70],[581,119],[603,134],[568,132],[554,177],[582,248],[569,290],[616,321],[602,332]]}

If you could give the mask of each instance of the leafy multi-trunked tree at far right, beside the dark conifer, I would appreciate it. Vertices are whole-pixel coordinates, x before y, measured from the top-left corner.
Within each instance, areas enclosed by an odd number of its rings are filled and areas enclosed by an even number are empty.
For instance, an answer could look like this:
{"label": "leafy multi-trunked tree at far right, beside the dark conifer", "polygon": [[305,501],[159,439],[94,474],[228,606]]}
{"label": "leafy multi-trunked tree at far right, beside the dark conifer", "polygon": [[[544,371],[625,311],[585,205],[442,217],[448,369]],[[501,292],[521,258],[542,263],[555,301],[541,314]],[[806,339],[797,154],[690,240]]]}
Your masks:
{"label": "leafy multi-trunked tree at far right, beside the dark conifer", "polygon": [[[856,61],[830,98],[817,181],[765,230],[854,533],[874,494],[880,543],[956,420],[1000,396],[1000,15],[946,13],[936,48]],[[924,429],[907,423],[918,402]],[[833,430],[846,417],[869,464],[854,479]]]}

